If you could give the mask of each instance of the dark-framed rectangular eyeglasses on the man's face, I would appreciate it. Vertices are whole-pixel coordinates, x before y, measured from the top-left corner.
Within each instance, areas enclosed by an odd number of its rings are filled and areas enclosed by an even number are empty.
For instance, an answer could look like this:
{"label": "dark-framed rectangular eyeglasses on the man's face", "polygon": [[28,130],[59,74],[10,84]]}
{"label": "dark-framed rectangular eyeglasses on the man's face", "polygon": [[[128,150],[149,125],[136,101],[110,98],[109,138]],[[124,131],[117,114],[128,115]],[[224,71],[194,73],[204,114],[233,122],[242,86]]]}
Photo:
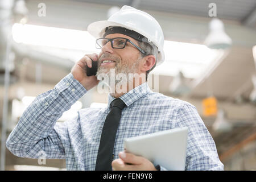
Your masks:
{"label": "dark-framed rectangular eyeglasses on the man's face", "polygon": [[146,54],[145,51],[143,51],[140,47],[138,47],[136,44],[131,42],[131,40],[126,39],[126,38],[113,38],[113,39],[108,39],[108,38],[98,38],[96,39],[96,48],[100,49],[103,46],[105,46],[108,42],[110,41],[112,48],[114,49],[123,49],[126,46],[126,43],[129,42],[133,44],[134,47],[136,47],[140,52],[142,52],[144,55]]}

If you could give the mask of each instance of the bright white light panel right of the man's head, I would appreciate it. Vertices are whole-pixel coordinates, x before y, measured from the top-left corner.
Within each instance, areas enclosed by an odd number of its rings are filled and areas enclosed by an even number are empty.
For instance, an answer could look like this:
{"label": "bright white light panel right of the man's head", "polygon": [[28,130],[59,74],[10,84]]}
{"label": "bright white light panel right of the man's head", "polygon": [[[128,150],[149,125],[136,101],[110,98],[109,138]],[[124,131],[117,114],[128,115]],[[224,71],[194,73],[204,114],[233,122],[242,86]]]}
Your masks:
{"label": "bright white light panel right of the man's head", "polygon": [[198,78],[224,51],[210,49],[203,44],[165,40],[164,52],[166,60],[155,67],[152,73],[176,76],[181,71],[184,77]]}

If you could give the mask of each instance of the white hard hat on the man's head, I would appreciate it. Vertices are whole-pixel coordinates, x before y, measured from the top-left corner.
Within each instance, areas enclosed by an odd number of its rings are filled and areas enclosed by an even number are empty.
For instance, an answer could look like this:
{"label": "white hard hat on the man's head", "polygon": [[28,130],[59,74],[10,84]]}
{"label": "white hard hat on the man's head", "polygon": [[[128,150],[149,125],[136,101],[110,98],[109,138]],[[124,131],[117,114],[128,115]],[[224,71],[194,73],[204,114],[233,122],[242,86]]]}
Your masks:
{"label": "white hard hat on the man's head", "polygon": [[117,13],[110,16],[108,20],[90,23],[87,31],[96,39],[101,38],[106,27],[124,27],[138,32],[158,47],[156,65],[164,61],[164,35],[159,23],[150,14],[137,10],[131,6],[123,6]]}

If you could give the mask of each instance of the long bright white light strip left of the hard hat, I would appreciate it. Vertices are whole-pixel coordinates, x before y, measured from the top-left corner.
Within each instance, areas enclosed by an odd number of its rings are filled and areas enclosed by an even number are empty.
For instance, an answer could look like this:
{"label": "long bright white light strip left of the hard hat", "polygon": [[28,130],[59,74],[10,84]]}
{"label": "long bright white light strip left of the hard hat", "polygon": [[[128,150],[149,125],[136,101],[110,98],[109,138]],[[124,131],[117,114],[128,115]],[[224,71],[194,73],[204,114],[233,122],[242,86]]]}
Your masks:
{"label": "long bright white light strip left of the hard hat", "polygon": [[98,52],[87,31],[14,23],[12,33],[17,43]]}

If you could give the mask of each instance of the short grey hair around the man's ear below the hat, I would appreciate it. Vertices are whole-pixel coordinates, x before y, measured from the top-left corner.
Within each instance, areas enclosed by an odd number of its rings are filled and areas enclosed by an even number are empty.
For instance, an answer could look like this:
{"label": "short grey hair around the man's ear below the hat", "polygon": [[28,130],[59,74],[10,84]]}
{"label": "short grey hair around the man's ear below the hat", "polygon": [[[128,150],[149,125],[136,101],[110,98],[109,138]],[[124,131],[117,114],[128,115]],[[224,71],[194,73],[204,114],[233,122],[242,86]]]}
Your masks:
{"label": "short grey hair around the man's ear below the hat", "polygon": [[150,70],[146,71],[146,81],[147,81],[148,73],[150,73],[152,71],[152,69],[154,69],[155,66],[156,66],[156,59],[158,57],[158,48],[154,44],[150,44],[150,43],[146,43],[146,42],[137,41],[137,43],[138,43],[139,47],[142,48],[142,50],[146,52],[145,54],[143,54],[141,52],[141,57],[142,58],[145,57],[145,56],[148,56],[148,55],[155,56],[154,66]]}

